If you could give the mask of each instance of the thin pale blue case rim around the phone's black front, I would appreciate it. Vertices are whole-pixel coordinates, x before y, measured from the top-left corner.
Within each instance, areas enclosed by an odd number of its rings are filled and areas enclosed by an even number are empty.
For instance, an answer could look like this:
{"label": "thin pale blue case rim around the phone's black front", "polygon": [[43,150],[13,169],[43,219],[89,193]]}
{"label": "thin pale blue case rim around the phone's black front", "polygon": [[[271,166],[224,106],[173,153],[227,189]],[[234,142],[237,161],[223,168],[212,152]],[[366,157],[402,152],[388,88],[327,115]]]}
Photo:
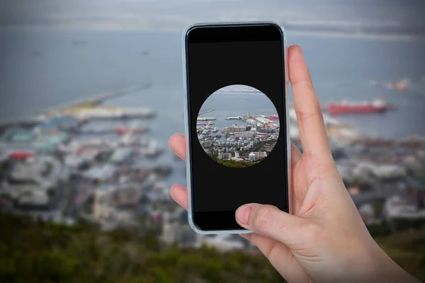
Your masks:
{"label": "thin pale blue case rim around the phone's black front", "polygon": [[[237,229],[237,230],[217,230],[217,231],[203,231],[198,229],[196,227],[194,221],[193,221],[193,204],[192,204],[192,187],[191,187],[191,179],[192,179],[192,173],[191,173],[191,152],[189,148],[189,141],[188,141],[188,134],[190,130],[189,120],[188,120],[188,86],[187,86],[187,69],[186,69],[186,35],[191,28],[195,28],[198,26],[209,26],[209,25],[252,25],[252,24],[272,24],[278,26],[280,28],[281,33],[283,35],[283,58],[285,62],[284,66],[284,81],[285,81],[285,101],[286,101],[286,144],[287,144],[287,168],[288,168],[288,176],[291,175],[291,163],[290,163],[290,136],[289,136],[289,108],[288,108],[288,45],[286,42],[286,33],[283,26],[278,25],[278,23],[275,23],[273,21],[251,21],[251,22],[217,22],[217,23],[196,23],[193,25],[188,25],[188,27],[183,31],[182,35],[182,53],[183,53],[183,89],[184,89],[184,125],[185,125],[185,137],[186,137],[186,183],[187,183],[187,190],[188,190],[188,222],[191,226],[191,229],[195,231],[196,233],[200,234],[220,234],[220,233],[227,233],[227,234],[241,234],[241,233],[252,233],[249,230],[246,229]],[[293,197],[292,197],[292,187],[291,187],[291,178],[288,178],[288,211],[290,214],[293,213]]]}

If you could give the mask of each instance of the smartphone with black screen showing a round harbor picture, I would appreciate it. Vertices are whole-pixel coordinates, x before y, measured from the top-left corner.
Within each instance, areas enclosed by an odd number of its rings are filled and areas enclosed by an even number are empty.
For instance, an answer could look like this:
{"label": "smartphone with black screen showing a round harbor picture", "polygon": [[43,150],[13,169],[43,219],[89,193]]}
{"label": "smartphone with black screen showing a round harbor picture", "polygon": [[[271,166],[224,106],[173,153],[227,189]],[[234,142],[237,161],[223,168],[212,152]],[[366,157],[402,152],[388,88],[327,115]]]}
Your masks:
{"label": "smartphone with black screen showing a round harbor picture", "polygon": [[183,33],[188,221],[249,233],[236,209],[290,213],[285,31],[273,22],[200,23]]}

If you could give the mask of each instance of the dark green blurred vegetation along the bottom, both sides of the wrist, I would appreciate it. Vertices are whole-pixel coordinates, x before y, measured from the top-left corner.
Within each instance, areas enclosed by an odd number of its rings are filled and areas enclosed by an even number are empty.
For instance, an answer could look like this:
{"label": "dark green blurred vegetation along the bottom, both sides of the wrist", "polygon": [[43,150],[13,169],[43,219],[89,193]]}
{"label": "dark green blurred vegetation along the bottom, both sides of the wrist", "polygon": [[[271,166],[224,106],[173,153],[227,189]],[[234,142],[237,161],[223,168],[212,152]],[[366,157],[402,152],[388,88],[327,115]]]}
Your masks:
{"label": "dark green blurred vegetation along the bottom, both sides of the wrist", "polygon": [[[152,236],[4,213],[0,226],[0,282],[284,282],[257,253],[167,247]],[[424,230],[376,240],[395,262],[425,280]]]}

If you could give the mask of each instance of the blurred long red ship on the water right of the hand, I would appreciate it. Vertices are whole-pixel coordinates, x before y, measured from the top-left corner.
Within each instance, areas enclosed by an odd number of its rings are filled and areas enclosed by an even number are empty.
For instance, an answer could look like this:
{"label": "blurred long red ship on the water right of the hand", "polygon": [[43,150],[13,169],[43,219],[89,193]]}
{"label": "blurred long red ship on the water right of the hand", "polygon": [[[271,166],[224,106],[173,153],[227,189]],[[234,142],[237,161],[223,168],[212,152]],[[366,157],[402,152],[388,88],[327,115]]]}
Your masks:
{"label": "blurred long red ship on the water right of the hand", "polygon": [[382,113],[387,111],[387,104],[376,99],[372,103],[330,103],[328,111],[330,115],[353,114],[353,113]]}

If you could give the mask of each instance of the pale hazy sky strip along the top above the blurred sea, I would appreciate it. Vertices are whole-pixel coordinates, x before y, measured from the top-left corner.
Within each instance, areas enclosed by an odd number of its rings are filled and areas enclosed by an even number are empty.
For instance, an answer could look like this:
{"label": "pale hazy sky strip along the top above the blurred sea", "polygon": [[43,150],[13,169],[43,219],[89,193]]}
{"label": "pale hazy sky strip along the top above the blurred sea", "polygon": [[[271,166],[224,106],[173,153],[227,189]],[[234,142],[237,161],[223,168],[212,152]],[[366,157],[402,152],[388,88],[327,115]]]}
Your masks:
{"label": "pale hazy sky strip along the top above the blurred sea", "polygon": [[0,28],[183,30],[211,21],[425,27],[423,0],[0,0]]}

